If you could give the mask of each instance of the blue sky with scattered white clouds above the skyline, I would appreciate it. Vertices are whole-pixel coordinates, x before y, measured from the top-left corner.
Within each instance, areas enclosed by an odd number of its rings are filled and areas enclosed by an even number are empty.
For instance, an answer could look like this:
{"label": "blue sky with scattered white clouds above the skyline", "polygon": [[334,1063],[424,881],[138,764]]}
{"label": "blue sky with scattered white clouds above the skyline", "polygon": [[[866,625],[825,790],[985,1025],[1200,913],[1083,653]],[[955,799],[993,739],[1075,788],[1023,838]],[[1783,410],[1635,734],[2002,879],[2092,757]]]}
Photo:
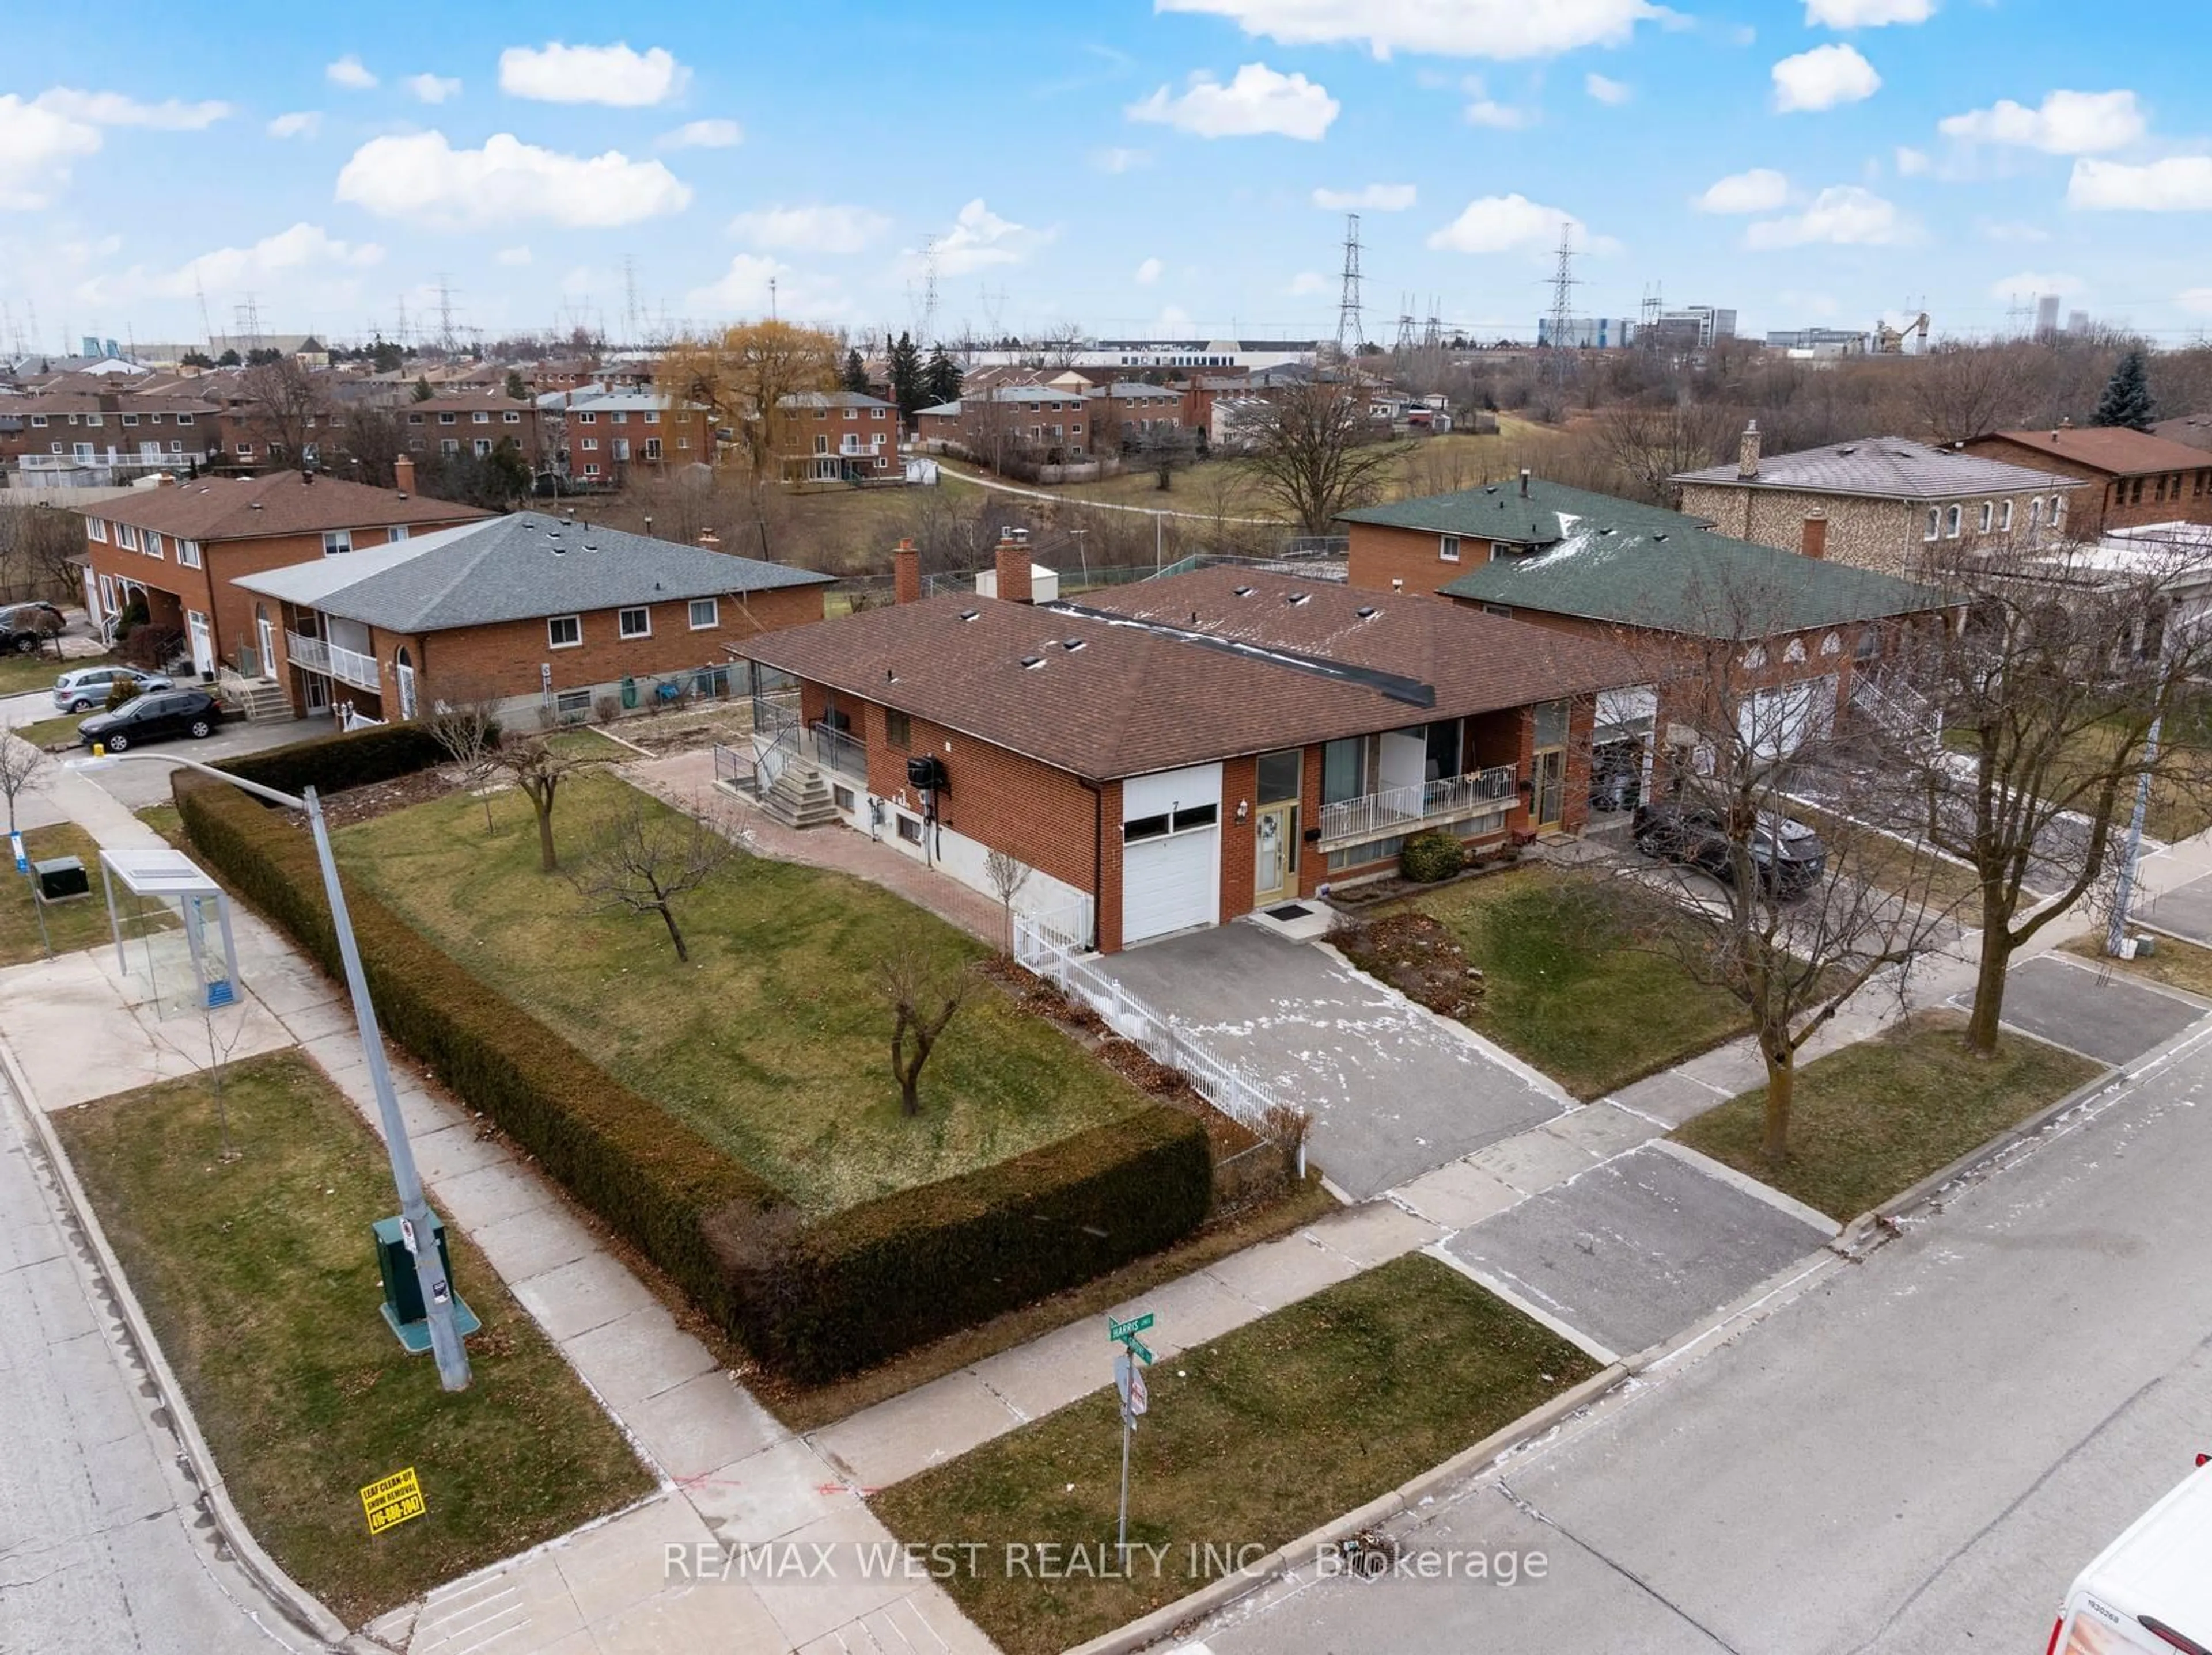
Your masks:
{"label": "blue sky with scattered white clouds above the skyline", "polygon": [[0,342],[197,338],[201,294],[389,334],[440,278],[458,327],[619,336],[626,261],[653,323],[774,281],[914,327],[929,245],[945,334],[1334,334],[1347,201],[1383,338],[1402,296],[1531,336],[1562,219],[1579,314],[2212,329],[2201,0],[347,11],[13,15]]}

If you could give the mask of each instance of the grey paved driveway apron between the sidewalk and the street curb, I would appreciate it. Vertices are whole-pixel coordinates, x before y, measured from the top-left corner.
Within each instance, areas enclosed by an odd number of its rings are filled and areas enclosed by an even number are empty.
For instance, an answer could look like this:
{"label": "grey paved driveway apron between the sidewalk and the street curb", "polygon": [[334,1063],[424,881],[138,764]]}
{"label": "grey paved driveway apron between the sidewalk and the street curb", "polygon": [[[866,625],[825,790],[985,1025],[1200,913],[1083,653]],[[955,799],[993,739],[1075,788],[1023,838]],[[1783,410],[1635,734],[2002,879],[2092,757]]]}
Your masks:
{"label": "grey paved driveway apron between the sidewalk and the street curb", "polygon": [[1606,1350],[1690,1328],[1834,1237],[1644,1145],[1531,1195],[1444,1246]]}

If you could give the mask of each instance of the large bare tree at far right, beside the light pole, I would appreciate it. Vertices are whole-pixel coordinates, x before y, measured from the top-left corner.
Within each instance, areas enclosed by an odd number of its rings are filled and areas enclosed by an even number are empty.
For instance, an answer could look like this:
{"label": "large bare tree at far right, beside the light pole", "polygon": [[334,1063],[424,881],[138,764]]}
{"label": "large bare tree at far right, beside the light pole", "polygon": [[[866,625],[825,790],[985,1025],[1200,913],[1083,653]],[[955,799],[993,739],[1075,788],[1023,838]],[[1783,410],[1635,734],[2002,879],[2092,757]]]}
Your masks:
{"label": "large bare tree at far right, beside the light pole", "polygon": [[1969,619],[1900,661],[1898,694],[1924,707],[1929,734],[1891,742],[1878,765],[1911,778],[1927,842],[1982,879],[1975,1052],[1997,1045],[2013,955],[2108,875],[2137,787],[2212,791],[2183,718],[2190,681],[2212,670],[2212,630],[2179,612],[2203,572],[2201,552],[2154,544],[2126,563],[2022,548],[1936,570]]}

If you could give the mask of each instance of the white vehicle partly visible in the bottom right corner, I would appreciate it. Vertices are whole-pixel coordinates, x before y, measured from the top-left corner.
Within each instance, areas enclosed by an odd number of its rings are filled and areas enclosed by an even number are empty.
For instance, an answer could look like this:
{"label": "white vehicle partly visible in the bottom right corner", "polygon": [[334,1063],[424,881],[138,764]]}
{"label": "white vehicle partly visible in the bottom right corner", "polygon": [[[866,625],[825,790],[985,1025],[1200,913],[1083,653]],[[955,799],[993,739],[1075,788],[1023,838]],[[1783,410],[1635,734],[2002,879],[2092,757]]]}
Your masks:
{"label": "white vehicle partly visible in the bottom right corner", "polygon": [[2081,1571],[2046,1655],[2212,1655],[2208,1458]]}

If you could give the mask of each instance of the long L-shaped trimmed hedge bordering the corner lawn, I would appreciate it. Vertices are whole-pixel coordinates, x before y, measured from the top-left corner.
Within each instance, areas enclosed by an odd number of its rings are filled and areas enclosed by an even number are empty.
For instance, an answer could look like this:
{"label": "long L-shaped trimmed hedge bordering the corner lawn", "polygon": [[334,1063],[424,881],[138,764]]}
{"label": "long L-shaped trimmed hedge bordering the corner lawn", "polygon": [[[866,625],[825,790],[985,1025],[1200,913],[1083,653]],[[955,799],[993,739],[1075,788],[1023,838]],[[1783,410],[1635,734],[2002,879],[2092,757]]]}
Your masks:
{"label": "long L-shaped trimmed hedge bordering the corner lawn", "polygon": [[[338,773],[327,765],[305,773],[312,762],[292,758],[279,771],[285,780],[268,784],[321,787]],[[173,791],[192,846],[323,970],[343,977],[307,835],[192,771],[177,771]],[[995,1167],[807,1224],[783,1191],[608,1076],[374,893],[347,879],[345,902],[385,1032],[701,1310],[805,1383],[1159,1251],[1203,1222],[1212,1200],[1206,1129],[1148,1105]]]}

